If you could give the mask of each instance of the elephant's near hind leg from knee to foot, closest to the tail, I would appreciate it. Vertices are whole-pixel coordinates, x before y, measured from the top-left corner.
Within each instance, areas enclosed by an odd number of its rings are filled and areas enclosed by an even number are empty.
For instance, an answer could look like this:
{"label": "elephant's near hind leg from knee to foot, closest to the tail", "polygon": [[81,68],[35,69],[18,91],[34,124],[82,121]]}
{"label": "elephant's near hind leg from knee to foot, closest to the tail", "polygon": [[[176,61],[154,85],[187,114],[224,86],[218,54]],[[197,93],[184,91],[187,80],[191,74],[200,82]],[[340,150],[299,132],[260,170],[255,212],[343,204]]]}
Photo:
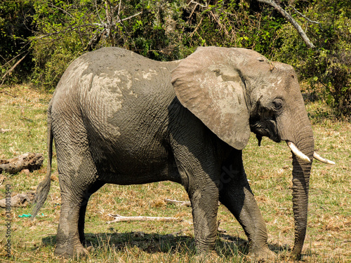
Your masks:
{"label": "elephant's near hind leg from knee to foot, closest to the tail", "polygon": [[84,241],[86,205],[91,194],[103,183],[98,180],[95,165],[89,156],[67,154],[70,159],[65,159],[61,153],[58,149],[61,210],[55,253],[65,257],[83,256],[88,254],[81,243]]}

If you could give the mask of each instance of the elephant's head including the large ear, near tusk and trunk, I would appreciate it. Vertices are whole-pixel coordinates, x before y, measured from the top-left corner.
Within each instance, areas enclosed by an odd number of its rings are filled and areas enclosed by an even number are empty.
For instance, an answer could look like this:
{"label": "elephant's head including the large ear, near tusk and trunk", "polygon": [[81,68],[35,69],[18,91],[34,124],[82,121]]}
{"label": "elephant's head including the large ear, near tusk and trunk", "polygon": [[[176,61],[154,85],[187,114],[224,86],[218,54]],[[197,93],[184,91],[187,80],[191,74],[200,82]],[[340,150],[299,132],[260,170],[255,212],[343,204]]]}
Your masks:
{"label": "elephant's head including the large ear, near tusk and trunk", "polygon": [[178,100],[221,140],[244,149],[251,131],[293,151],[293,214],[299,255],[307,227],[312,127],[293,67],[244,48],[198,48],[172,72]]}

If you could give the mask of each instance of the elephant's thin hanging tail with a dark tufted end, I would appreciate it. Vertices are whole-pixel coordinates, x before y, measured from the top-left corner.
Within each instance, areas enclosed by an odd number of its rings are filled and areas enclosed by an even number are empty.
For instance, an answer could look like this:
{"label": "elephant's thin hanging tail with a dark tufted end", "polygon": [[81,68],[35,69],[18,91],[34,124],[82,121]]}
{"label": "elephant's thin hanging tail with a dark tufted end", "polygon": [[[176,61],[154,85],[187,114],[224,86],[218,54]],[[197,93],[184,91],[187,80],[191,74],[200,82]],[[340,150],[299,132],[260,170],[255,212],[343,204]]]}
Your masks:
{"label": "elephant's thin hanging tail with a dark tufted end", "polygon": [[[50,112],[50,110],[49,110]],[[41,181],[37,187],[35,198],[33,201],[34,208],[32,210],[32,220],[37,216],[40,208],[44,205],[51,185],[51,160],[53,159],[53,132],[51,129],[51,116],[48,113],[48,167],[46,170],[46,177]]]}

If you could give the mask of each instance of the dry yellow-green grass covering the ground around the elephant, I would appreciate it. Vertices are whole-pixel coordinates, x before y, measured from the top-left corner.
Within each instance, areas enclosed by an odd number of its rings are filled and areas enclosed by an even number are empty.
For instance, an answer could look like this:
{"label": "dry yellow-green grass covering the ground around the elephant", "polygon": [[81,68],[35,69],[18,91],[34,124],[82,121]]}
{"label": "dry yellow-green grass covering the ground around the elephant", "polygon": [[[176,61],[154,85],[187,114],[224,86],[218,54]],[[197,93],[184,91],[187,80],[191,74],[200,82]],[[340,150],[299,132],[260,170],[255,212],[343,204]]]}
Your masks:
{"label": "dry yellow-green grass covering the ground around the elephant", "polygon": [[[25,152],[46,156],[46,107],[51,94],[14,86],[0,89],[0,159]],[[335,119],[320,102],[308,102],[307,112],[314,128],[316,149],[336,166],[314,162],[310,182],[310,206],[302,262],[351,261],[351,124]],[[258,147],[251,136],[244,149],[246,173],[267,222],[270,248],[281,255],[293,244],[291,204],[291,154],[284,143],[267,138]],[[44,168],[26,175],[4,174],[12,195],[35,191],[44,178]],[[1,175],[0,175],[1,176]],[[194,250],[191,208],[172,205],[164,198],[187,201],[183,187],[172,182],[119,186],[107,184],[91,197],[86,213],[86,235],[94,246],[90,257],[78,262],[197,262]],[[0,208],[1,209],[1,208]],[[5,210],[0,213],[1,262],[76,262],[53,254],[60,213],[60,188],[55,156],[51,191],[41,209],[43,215],[31,221],[18,215],[31,212],[29,206],[12,209],[11,258],[6,257]],[[183,222],[120,222],[108,214],[181,217]],[[210,262],[249,262],[247,240],[234,217],[220,205],[220,227],[216,252]],[[277,262],[289,262],[278,259]]]}

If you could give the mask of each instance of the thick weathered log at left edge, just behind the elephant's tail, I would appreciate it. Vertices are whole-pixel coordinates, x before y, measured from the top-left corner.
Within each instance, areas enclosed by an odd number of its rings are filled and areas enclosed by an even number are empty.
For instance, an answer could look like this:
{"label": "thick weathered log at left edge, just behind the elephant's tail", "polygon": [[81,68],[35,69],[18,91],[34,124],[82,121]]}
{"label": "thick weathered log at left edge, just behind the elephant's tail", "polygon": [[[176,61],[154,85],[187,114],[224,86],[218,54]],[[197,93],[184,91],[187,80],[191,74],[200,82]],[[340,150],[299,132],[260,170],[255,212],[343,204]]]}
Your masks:
{"label": "thick weathered log at left edge, just behind the elephant's tail", "polygon": [[0,173],[18,173],[23,169],[39,170],[43,165],[43,154],[27,153],[13,159],[0,159]]}

